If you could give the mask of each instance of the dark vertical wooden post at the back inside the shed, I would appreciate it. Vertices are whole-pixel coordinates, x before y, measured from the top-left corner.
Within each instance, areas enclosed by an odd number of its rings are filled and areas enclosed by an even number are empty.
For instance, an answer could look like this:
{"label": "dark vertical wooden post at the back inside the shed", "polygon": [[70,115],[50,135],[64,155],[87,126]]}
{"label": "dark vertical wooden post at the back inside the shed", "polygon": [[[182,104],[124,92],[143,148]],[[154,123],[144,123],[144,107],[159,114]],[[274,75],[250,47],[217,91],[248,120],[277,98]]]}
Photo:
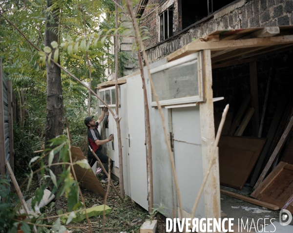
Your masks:
{"label": "dark vertical wooden post at the back inside the shed", "polygon": [[251,107],[254,108],[252,116],[252,136],[257,137],[259,132],[259,111],[258,111],[258,90],[257,90],[257,68],[256,62],[250,64],[250,80],[251,80]]}

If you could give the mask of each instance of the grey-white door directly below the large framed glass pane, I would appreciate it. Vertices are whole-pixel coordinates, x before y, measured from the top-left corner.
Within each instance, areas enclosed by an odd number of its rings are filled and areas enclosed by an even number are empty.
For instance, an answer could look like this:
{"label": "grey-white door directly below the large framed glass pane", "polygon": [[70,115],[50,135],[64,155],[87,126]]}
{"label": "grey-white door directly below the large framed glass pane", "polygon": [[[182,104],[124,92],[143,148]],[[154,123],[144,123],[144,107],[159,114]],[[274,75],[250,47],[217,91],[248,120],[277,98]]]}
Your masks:
{"label": "grey-white door directly below the large framed glass pane", "polygon": [[[203,181],[199,106],[172,108],[172,127],[175,169],[183,210],[191,213]],[[205,217],[204,194],[201,196],[195,216]]]}

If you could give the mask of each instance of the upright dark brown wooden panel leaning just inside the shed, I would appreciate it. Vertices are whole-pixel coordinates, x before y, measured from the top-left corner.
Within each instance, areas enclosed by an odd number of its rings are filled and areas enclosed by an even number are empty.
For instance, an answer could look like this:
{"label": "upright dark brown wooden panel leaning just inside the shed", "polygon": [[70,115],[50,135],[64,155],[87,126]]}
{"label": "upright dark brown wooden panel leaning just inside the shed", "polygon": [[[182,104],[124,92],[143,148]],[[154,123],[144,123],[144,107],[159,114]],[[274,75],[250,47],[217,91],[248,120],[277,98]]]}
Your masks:
{"label": "upright dark brown wooden panel leaning just inside the shed", "polygon": [[265,143],[265,138],[222,136],[219,141],[220,183],[242,190]]}

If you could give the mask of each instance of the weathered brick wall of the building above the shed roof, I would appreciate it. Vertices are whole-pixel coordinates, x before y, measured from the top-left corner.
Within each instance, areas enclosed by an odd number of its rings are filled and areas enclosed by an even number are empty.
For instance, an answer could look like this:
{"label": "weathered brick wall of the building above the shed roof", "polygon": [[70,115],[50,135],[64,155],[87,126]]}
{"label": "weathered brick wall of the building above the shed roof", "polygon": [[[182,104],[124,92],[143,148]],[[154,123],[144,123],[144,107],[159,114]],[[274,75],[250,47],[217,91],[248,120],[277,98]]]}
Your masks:
{"label": "weathered brick wall of the building above the shed roof", "polygon": [[[156,1],[159,2],[159,0],[150,0],[149,3],[155,4]],[[166,3],[166,1],[160,2]],[[146,9],[143,15],[145,18],[142,20],[142,25],[148,26],[150,31],[150,39],[145,41],[149,62],[166,57],[192,42],[192,38],[204,37],[216,30],[293,24],[293,0],[241,0],[218,12],[209,20],[191,27],[166,42],[157,44],[159,37],[155,21],[159,23],[156,12],[160,10],[160,6],[162,4],[154,9]],[[177,0],[174,1],[174,8],[175,14],[178,8]],[[177,25],[173,28],[176,33],[178,32],[178,14],[174,24]]]}

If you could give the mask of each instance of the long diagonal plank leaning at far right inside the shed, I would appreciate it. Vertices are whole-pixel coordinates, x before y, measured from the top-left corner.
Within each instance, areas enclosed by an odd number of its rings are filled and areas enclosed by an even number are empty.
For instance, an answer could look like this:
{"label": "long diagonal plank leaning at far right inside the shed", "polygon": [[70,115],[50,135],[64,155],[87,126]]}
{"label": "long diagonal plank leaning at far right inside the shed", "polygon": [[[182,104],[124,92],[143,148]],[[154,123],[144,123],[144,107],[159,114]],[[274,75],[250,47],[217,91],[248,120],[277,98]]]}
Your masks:
{"label": "long diagonal plank leaning at far right inside the shed", "polygon": [[274,138],[276,129],[279,127],[279,122],[283,116],[284,109],[287,106],[290,92],[291,92],[290,90],[284,90],[281,94],[277,109],[276,109],[275,114],[273,116],[271,127],[270,127],[268,135],[267,135],[268,141],[259,156],[259,159],[256,163],[255,169],[254,169],[252,176],[251,176],[251,183],[250,183],[251,187],[253,187],[255,185],[255,183],[258,179],[259,173],[260,173],[261,168],[263,166],[263,162],[266,159],[268,150],[270,149],[272,140]]}

